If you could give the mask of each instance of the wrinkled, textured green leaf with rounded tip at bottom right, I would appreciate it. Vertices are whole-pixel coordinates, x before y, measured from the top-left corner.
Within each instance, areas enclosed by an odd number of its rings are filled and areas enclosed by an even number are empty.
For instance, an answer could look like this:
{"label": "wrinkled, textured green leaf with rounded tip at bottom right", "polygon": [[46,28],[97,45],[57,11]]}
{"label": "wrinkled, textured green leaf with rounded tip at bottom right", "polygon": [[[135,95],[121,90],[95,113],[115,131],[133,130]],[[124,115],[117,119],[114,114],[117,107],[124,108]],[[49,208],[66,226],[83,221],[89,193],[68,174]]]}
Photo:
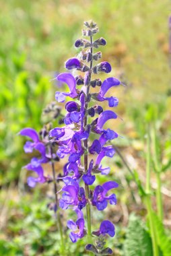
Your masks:
{"label": "wrinkled, textured green leaf with rounded tip at bottom right", "polygon": [[153,255],[149,233],[145,230],[141,219],[135,215],[131,215],[129,218],[124,249],[125,256]]}

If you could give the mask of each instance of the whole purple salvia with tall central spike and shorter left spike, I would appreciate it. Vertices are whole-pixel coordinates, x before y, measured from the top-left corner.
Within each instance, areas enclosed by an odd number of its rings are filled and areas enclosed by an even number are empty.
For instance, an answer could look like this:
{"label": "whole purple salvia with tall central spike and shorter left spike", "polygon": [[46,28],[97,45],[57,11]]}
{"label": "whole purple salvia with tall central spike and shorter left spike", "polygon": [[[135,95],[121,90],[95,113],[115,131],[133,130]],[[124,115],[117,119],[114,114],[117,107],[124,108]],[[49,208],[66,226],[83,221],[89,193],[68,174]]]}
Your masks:
{"label": "whole purple salvia with tall central spike and shorter left spike", "polygon": [[[104,38],[93,40],[98,32],[96,23],[84,22],[82,30],[83,38],[76,40],[75,47],[81,48],[77,57],[68,59],[65,63],[66,73],[60,73],[55,79],[58,82],[67,84],[69,92],[56,92],[57,102],[65,102],[66,115],[63,117],[63,125],[48,129],[42,129],[40,135],[34,129],[26,128],[20,131],[20,135],[30,137],[24,146],[26,153],[38,150],[40,158],[32,158],[26,166],[28,170],[36,172],[37,177],[29,177],[28,185],[34,187],[36,183],[54,183],[55,203],[53,210],[57,212],[59,230],[61,234],[61,247],[64,254],[65,245],[63,241],[63,227],[59,209],[71,209],[75,212],[76,222],[67,221],[67,227],[71,230],[69,237],[73,243],[78,239],[87,236],[87,251],[94,255],[111,255],[112,249],[105,248],[105,241],[108,236],[115,234],[114,224],[104,220],[99,224],[98,230],[92,230],[92,211],[103,211],[108,206],[116,204],[116,195],[113,189],[118,187],[115,181],[107,181],[102,185],[96,185],[97,175],[108,175],[110,168],[102,166],[104,157],[112,158],[114,148],[110,145],[112,139],[118,134],[112,129],[104,129],[105,123],[110,119],[116,119],[117,115],[111,108],[118,105],[118,99],[114,96],[106,97],[106,92],[112,87],[121,85],[121,82],[108,77],[102,82],[97,77],[98,73],[110,73],[110,63],[103,61],[97,63],[102,57],[100,51],[94,52],[100,46],[106,45]],[[74,72],[73,72],[74,71]],[[75,76],[76,74],[76,76]],[[99,87],[98,93],[92,93],[91,89]],[[108,102],[110,110],[103,110],[100,102]],[[96,104],[94,105],[94,102]],[[55,104],[53,104],[53,108]],[[55,117],[60,115],[58,113]],[[48,112],[48,110],[46,110]],[[52,128],[52,127],[51,127]],[[90,141],[93,135],[94,141]],[[41,138],[40,138],[41,136]],[[67,164],[63,167],[63,174],[56,177],[55,161],[60,158],[67,158]],[[43,166],[50,162],[53,170],[53,177],[45,177]],[[63,187],[57,184],[63,182]],[[96,181],[97,183],[97,181]],[[93,243],[93,236],[96,241]]]}

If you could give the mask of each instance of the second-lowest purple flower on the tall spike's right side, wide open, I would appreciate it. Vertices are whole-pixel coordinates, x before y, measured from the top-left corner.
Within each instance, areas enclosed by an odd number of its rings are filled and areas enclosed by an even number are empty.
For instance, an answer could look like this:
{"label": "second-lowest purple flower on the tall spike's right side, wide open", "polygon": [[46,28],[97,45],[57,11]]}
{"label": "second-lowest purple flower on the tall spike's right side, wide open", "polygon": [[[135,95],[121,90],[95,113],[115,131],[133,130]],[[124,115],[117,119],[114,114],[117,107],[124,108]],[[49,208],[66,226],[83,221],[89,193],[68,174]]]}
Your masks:
{"label": "second-lowest purple flower on the tall spike's right side, wide open", "polygon": [[110,204],[116,204],[115,194],[106,196],[110,189],[115,189],[116,187],[118,187],[118,183],[115,181],[107,181],[102,186],[98,185],[94,189],[92,204],[95,205],[99,211],[102,211],[107,207],[108,201]]}

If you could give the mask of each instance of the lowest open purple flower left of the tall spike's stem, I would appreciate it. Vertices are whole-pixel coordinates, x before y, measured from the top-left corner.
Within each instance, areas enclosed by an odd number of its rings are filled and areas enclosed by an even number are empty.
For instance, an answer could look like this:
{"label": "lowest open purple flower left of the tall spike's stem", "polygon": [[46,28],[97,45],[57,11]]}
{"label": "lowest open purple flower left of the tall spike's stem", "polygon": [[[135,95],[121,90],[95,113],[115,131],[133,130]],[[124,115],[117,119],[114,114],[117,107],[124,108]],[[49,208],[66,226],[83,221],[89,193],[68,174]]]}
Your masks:
{"label": "lowest open purple flower left of the tall spike's stem", "polygon": [[83,214],[79,209],[76,209],[75,212],[77,214],[77,221],[73,222],[73,220],[69,220],[67,222],[67,227],[72,230],[69,237],[73,243],[77,242],[78,239],[82,238],[86,234]]}

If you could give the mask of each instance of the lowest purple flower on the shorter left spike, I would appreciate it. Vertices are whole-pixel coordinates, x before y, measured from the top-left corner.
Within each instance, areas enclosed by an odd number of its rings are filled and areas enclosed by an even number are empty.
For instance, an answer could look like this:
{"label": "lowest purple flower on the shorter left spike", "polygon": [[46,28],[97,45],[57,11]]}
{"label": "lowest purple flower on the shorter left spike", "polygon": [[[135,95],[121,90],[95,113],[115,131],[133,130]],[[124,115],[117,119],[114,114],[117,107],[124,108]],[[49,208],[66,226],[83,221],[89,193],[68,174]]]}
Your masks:
{"label": "lowest purple flower on the shorter left spike", "polygon": [[38,177],[28,177],[28,185],[30,187],[35,187],[36,183],[44,183],[46,181],[46,178],[44,177],[44,171],[42,166],[32,166],[32,164],[27,164],[24,166],[24,168],[27,168],[28,170],[33,170],[38,174]]}

